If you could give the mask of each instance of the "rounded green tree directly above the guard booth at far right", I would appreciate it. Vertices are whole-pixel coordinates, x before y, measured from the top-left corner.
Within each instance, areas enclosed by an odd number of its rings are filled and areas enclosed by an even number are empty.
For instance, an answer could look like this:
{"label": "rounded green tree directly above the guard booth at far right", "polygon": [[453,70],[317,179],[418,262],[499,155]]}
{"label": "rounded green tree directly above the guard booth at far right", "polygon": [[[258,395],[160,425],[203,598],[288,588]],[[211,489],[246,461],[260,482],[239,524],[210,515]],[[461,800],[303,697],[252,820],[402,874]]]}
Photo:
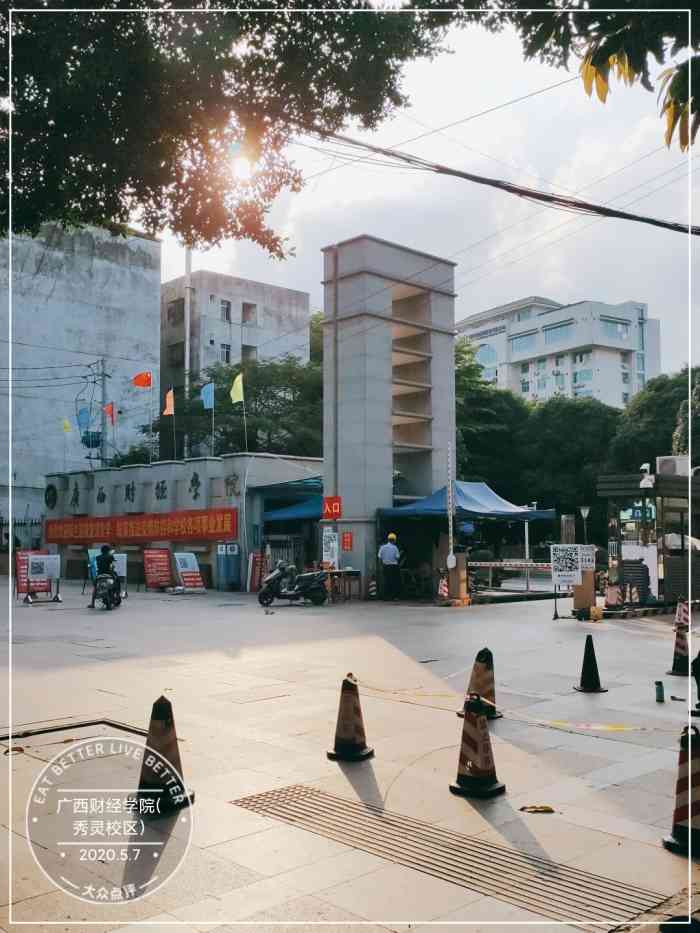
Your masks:
{"label": "rounded green tree directly above the guard booth at far right", "polygon": [[[693,371],[694,380],[698,372]],[[673,449],[679,409],[687,400],[687,369],[650,379],[620,417],[610,447],[610,468],[636,473],[642,463],[650,463],[653,468],[657,457],[668,456]]]}

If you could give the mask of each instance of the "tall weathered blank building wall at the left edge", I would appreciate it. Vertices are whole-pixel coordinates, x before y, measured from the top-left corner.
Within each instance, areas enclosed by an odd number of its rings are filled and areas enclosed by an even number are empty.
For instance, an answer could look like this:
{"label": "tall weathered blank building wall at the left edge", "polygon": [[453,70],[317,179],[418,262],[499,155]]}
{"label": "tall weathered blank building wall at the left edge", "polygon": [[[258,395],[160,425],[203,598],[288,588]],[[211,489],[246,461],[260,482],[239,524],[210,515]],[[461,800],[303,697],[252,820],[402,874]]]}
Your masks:
{"label": "tall weathered blank building wall at the left edge", "polygon": [[[138,428],[148,421],[149,392],[131,386],[131,377],[150,369],[158,398],[160,243],[48,224],[36,238],[13,237],[12,243],[13,358],[3,365],[14,367],[14,511],[21,519],[43,513],[46,473],[85,466],[90,451],[80,443],[76,408],[92,400],[92,427],[100,429],[99,386],[82,381],[90,373],[87,364],[106,358],[107,401],[121,410],[116,430],[108,430],[108,455],[114,444],[125,451],[143,440]],[[0,331],[5,334],[9,279],[5,244],[0,256]],[[0,512],[6,516],[7,379],[2,383]],[[64,418],[71,423],[68,434]]]}

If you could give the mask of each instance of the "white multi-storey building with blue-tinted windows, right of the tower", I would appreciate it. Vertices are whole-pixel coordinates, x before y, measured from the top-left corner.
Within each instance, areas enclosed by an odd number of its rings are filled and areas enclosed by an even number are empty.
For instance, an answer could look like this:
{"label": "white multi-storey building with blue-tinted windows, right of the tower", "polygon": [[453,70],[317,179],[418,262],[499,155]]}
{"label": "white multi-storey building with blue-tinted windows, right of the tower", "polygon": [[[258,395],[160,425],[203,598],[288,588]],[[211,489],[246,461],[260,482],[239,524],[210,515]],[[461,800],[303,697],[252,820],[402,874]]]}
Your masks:
{"label": "white multi-storey building with blue-tinted windows, right of the tower", "polygon": [[622,408],[660,371],[659,321],[638,301],[531,296],[473,314],[457,331],[477,345],[484,378],[529,401],[565,395]]}

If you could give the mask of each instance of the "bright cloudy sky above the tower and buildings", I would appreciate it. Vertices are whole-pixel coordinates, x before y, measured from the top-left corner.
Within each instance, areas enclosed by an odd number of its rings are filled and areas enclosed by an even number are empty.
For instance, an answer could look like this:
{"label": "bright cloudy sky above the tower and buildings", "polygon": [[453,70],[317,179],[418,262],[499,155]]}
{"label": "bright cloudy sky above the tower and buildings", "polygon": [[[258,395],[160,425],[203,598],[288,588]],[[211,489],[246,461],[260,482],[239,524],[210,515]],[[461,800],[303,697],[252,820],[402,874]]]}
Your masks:
{"label": "bright cloudy sky above the tower and buildings", "polygon": [[[640,86],[611,81],[603,105],[575,81],[401,146],[577,73],[525,62],[510,29],[491,35],[471,26],[451,32],[447,45],[448,52],[433,61],[406,67],[408,108],[373,133],[351,129],[349,135],[465,171],[688,222],[690,199],[697,195],[689,156],[676,141],[666,149],[656,94]],[[457,320],[528,295],[562,303],[634,300],[646,302],[649,316],[661,321],[663,372],[688,362],[691,345],[692,359],[700,359],[700,327],[692,344],[689,338],[689,244],[683,234],[582,217],[457,178],[346,166],[330,152],[297,144],[289,154],[309,180],[300,193],[278,199],[270,220],[295,255],[280,262],[255,244],[229,241],[195,252],[194,270],[306,291],[312,309],[322,310],[320,250],[366,233],[457,262]],[[697,156],[690,166],[697,167]],[[692,258],[697,265],[694,243]],[[166,234],[163,279],[183,272],[184,250]],[[697,298],[692,309],[697,313]]]}

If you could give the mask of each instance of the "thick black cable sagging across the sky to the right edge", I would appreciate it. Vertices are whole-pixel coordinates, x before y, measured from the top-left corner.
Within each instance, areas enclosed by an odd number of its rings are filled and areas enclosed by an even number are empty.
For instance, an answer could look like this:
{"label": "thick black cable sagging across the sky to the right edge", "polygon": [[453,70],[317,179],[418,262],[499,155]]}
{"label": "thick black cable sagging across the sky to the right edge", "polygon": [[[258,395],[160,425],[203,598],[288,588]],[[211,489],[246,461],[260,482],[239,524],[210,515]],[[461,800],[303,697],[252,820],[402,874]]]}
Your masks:
{"label": "thick black cable sagging across the sky to the right edge", "polygon": [[518,197],[531,201],[540,201],[557,207],[561,210],[579,212],[583,214],[597,214],[601,217],[611,217],[618,220],[633,220],[637,223],[650,224],[654,227],[661,227],[665,230],[672,230],[675,233],[691,233],[693,236],[700,236],[700,227],[688,224],[680,224],[674,221],[661,220],[656,217],[647,217],[641,214],[631,214],[628,211],[621,211],[614,208],[605,207],[602,204],[594,204],[590,201],[581,201],[578,198],[566,197],[564,195],[549,194],[545,191],[539,191],[535,188],[526,188],[523,185],[515,185],[511,182],[503,181],[499,178],[488,178],[485,175],[476,175],[473,172],[464,172],[461,169],[451,168],[448,165],[441,165],[439,162],[429,162],[426,159],[419,159],[407,152],[400,152],[397,149],[385,149],[382,146],[374,146],[371,143],[365,143],[360,140],[353,140],[349,136],[340,133],[328,133],[319,131],[321,138],[330,137],[350,145],[356,145],[359,149],[366,149],[369,152],[377,152],[381,155],[396,158],[399,162],[406,162],[409,165],[423,165],[426,170],[432,171],[437,175],[448,175],[454,178],[462,178],[465,181],[474,182],[478,185],[486,185],[490,188],[497,188],[508,194],[514,194]]}

